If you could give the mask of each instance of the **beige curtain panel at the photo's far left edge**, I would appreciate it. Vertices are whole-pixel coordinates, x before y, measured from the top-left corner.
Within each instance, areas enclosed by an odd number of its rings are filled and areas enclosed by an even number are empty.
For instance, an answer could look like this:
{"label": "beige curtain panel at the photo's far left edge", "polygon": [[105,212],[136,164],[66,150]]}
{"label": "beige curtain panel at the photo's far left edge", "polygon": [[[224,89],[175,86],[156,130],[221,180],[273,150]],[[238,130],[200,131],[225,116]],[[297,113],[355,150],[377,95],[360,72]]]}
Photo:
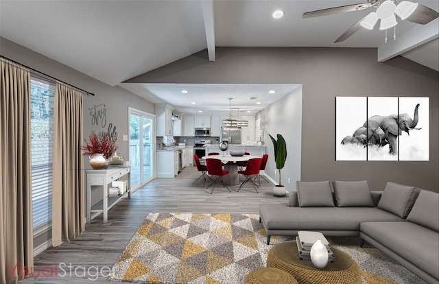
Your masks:
{"label": "beige curtain panel at the photo's far left edge", "polygon": [[9,284],[34,266],[30,74],[0,60],[0,283]]}

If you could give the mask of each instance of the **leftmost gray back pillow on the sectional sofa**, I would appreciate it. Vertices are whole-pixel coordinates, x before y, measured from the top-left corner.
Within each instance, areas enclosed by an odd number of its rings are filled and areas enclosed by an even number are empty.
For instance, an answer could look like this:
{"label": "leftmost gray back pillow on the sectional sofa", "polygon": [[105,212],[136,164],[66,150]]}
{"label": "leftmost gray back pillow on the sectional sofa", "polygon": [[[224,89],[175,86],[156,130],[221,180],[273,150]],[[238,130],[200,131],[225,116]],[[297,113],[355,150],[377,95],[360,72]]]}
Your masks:
{"label": "leftmost gray back pillow on the sectional sofa", "polygon": [[333,207],[334,200],[329,180],[296,182],[299,207]]}

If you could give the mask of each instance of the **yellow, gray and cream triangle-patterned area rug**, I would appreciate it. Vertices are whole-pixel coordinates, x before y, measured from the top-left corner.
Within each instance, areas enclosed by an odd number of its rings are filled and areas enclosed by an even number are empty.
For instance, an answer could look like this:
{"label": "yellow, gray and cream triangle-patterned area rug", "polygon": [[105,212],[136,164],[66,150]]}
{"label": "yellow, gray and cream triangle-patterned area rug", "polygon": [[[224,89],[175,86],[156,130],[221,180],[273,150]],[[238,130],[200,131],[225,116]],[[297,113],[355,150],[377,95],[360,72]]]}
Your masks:
{"label": "yellow, gray and cream triangle-patterned area rug", "polygon": [[[150,213],[113,266],[107,280],[132,283],[243,283],[265,267],[270,246],[258,214]],[[363,283],[423,283],[359,239],[331,238],[357,261]],[[351,244],[352,243],[352,244]],[[386,269],[388,268],[388,269]]]}

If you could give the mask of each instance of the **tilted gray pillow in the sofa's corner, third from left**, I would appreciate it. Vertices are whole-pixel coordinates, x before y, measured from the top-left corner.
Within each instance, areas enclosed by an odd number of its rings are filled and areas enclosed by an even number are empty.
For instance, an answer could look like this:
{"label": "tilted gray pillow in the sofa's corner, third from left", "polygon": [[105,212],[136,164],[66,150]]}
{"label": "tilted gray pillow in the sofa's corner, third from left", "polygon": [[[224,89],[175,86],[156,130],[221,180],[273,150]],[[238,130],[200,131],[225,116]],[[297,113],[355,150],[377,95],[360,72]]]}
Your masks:
{"label": "tilted gray pillow in the sofa's corner, third from left", "polygon": [[415,187],[388,182],[377,207],[406,218],[417,196],[418,191],[415,191]]}

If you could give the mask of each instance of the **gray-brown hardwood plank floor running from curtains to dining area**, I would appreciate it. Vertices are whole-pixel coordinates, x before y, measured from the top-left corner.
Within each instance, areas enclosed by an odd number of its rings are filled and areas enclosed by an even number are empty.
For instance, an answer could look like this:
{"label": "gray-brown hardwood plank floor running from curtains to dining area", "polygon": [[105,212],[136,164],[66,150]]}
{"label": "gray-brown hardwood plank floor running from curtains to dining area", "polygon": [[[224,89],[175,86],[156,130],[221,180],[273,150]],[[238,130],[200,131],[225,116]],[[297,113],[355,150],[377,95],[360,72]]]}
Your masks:
{"label": "gray-brown hardwood plank floor running from curtains to dining area", "polygon": [[123,199],[112,207],[107,224],[102,223],[99,215],[73,241],[35,257],[35,269],[44,268],[45,275],[50,275],[58,267],[58,276],[45,277],[40,273],[19,283],[109,283],[104,276],[148,213],[259,213],[259,204],[288,202],[287,197],[274,197],[273,184],[262,179],[259,193],[251,185],[245,185],[239,192],[238,187],[230,187],[232,192],[228,192],[219,185],[211,195],[211,188],[203,188],[201,179],[192,185],[198,176],[195,167],[185,167],[176,178],[156,178],[132,193],[131,199]]}

